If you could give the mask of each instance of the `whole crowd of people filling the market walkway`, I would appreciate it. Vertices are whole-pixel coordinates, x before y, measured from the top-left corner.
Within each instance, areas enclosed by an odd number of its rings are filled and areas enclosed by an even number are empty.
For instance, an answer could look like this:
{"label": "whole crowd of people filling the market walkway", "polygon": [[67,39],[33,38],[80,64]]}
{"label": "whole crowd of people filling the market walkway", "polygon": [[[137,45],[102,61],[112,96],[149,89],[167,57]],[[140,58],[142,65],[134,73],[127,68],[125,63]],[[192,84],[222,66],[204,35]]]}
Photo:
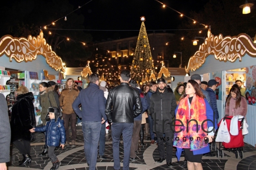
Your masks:
{"label": "whole crowd of people filling the market walkway", "polygon": [[[97,73],[92,73],[89,80],[90,85],[82,89],[72,78],[68,78],[66,89],[62,90],[61,94],[58,93],[59,87],[55,82],[40,83],[39,102],[42,107],[43,123],[41,127],[36,127],[34,96],[28,88],[21,86],[17,89],[18,97],[12,107],[10,124],[7,104],[3,102],[5,100],[0,93],[0,114],[3,124],[0,130],[0,139],[3,139],[0,140],[0,153],[5,153],[0,154],[0,170],[7,169],[5,162],[9,162],[10,142],[23,155],[19,165],[31,163],[30,141],[35,140],[35,132],[45,134],[45,148],[40,155],[48,154],[53,165],[51,170],[57,170],[61,162],[54,150],[56,147],[76,145],[76,124],[82,125],[86,143],[84,151],[89,170],[95,170],[98,146],[99,158],[107,159],[104,155],[105,135],[108,132],[106,124],[111,126],[115,170],[121,168],[121,134],[124,147],[123,170],[128,170],[130,161],[137,160],[139,139],[140,145],[145,145],[144,128],[146,134],[150,134],[150,144],[157,143],[157,162],[166,160],[168,167],[172,167],[173,147],[176,147],[178,160],[182,151],[185,154],[182,167],[187,166],[188,170],[202,170],[202,156],[210,152],[208,143],[214,139],[219,119],[217,98],[214,93],[218,85],[216,80],[201,82],[201,76],[194,74],[187,83],[178,84],[174,92],[167,87],[164,78],[152,81],[140,89],[137,81],[131,80],[131,73],[128,70],[121,71],[120,83],[114,87],[107,85],[105,81],[100,82]],[[246,117],[247,101],[239,85],[240,82],[237,81],[230,89],[225,105],[226,116]],[[146,122],[143,121],[145,117]],[[204,121],[206,119],[212,122]],[[69,121],[71,138],[68,130]],[[196,127],[197,124],[200,124],[201,128]],[[203,129],[208,129],[208,132]]]}

